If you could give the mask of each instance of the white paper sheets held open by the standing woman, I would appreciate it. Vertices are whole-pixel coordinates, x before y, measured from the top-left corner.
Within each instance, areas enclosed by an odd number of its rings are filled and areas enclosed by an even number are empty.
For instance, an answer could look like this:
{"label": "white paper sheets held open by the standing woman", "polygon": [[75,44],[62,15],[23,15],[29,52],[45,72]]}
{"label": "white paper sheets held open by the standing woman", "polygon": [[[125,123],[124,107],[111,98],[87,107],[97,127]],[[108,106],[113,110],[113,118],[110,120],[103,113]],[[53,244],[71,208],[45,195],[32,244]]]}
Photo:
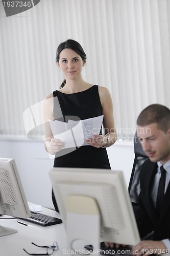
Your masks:
{"label": "white paper sheets held open by the standing woman", "polygon": [[103,115],[79,121],[49,120],[54,138],[65,142],[64,148],[88,145],[85,140],[100,133],[102,122]]}

